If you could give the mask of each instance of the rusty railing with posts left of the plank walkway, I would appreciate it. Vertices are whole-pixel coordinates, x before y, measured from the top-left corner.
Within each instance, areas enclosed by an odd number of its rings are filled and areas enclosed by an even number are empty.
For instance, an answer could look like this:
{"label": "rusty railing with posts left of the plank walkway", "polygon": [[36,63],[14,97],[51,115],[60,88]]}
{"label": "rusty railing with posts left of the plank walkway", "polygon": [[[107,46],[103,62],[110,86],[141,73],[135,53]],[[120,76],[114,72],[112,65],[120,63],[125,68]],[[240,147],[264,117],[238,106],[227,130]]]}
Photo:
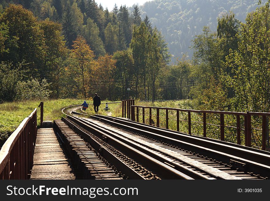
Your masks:
{"label": "rusty railing with posts left of the plank walkway", "polygon": [[10,135],[0,150],[0,179],[29,179],[37,138],[37,108]]}

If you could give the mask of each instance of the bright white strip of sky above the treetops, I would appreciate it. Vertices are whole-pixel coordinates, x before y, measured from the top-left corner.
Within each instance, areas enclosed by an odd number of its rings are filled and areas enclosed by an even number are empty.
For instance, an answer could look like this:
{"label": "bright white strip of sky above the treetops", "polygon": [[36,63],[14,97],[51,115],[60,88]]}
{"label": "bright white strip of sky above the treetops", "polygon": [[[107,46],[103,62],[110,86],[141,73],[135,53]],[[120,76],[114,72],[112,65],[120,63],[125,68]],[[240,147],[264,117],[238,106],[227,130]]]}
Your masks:
{"label": "bright white strip of sky above the treetops", "polygon": [[108,7],[109,11],[112,11],[115,3],[119,8],[121,5],[132,6],[133,4],[137,4],[137,3],[140,6],[148,1],[151,1],[151,0],[95,0],[95,2],[98,5],[99,5],[99,3],[101,3],[101,5],[103,6],[104,9],[106,9],[106,7]]}

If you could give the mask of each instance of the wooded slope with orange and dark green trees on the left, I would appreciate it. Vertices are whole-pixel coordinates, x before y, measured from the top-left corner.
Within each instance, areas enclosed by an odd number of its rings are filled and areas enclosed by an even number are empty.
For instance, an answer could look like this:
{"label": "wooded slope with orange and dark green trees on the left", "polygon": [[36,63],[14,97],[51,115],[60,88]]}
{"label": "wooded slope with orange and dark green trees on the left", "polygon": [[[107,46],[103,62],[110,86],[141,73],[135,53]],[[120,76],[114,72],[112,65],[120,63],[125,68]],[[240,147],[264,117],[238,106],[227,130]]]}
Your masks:
{"label": "wooded slope with orange and dark green trees on the left", "polygon": [[150,72],[170,62],[164,37],[141,19],[138,6],[132,13],[117,5],[109,12],[94,0],[1,6],[0,102],[95,93],[119,100],[128,98],[128,87],[134,87],[132,96],[146,98],[157,78]]}

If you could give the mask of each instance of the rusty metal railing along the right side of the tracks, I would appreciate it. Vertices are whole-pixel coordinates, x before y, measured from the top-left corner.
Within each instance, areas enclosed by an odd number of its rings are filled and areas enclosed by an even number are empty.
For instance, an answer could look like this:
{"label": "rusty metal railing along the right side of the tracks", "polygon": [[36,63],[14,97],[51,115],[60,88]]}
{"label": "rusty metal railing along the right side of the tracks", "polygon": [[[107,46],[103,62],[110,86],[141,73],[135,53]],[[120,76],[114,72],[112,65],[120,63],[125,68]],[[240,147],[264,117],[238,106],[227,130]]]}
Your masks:
{"label": "rusty metal railing along the right side of the tracks", "polygon": [[[141,108],[141,112],[139,113],[139,108]],[[148,110],[148,114],[145,114],[145,110]],[[152,117],[152,110],[155,110],[156,112],[156,123],[153,122]],[[160,116],[160,110],[165,110],[166,112],[166,117]],[[136,112],[135,112],[136,111]],[[169,118],[169,111],[176,111],[176,119]],[[179,119],[179,112],[187,112],[187,120]],[[191,113],[197,113],[202,115],[203,121],[192,121],[191,120]],[[216,124],[211,124],[211,123],[206,123],[206,115],[207,114],[218,114],[219,115],[219,125]],[[251,143],[251,138],[252,138],[252,129],[255,130],[260,130],[262,132],[262,140],[261,140],[261,147],[256,147],[260,148],[262,150],[266,150],[266,141],[269,142],[269,136],[268,136],[268,127],[267,127],[267,118],[270,116],[270,113],[267,112],[225,112],[225,111],[208,111],[208,110],[188,110],[188,109],[180,109],[180,108],[161,108],[161,107],[146,107],[146,106],[139,106],[139,105],[131,105],[131,120],[139,122],[139,116],[142,117],[142,123],[145,123],[145,116],[149,117],[149,125],[155,125],[156,127],[161,127],[160,126],[160,118],[166,119],[166,127],[165,129],[169,129],[169,119],[175,120],[176,121],[176,131],[180,131],[179,129],[179,122],[185,121],[188,124],[188,132],[187,134],[189,135],[195,135],[191,133],[191,128],[192,128],[192,123],[201,123],[203,124],[203,137],[206,137],[206,127],[207,125],[212,125],[212,126],[217,126],[220,127],[220,132],[219,132],[219,139],[222,141],[225,141],[224,139],[224,128],[225,127],[230,127],[236,129],[237,133],[237,144],[241,145],[241,131],[245,131],[245,146],[252,146]],[[228,126],[225,125],[224,123],[224,115],[233,115],[236,116],[236,125],[235,126]],[[261,129],[258,128],[253,128],[251,127],[251,117],[252,116],[261,116],[262,117],[262,125]],[[241,128],[241,123],[240,123],[240,117],[244,118],[244,128]],[[243,127],[243,126],[242,126]],[[269,147],[268,147],[269,148]]]}

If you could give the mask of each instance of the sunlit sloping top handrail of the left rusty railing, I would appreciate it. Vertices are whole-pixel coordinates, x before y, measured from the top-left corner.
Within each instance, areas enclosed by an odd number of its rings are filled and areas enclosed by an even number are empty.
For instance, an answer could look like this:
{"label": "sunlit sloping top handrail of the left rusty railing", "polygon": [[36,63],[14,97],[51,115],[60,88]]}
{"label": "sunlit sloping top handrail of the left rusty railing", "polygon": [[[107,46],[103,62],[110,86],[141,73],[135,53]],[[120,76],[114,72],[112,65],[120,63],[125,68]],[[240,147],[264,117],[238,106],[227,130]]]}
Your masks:
{"label": "sunlit sloping top handrail of the left rusty railing", "polygon": [[6,142],[2,146],[0,150],[0,173],[3,171],[5,166],[9,163],[9,159],[10,159],[9,156],[15,143],[20,137],[24,128],[27,126],[27,123],[29,123],[29,121],[32,118],[34,118],[36,113],[37,113],[37,108],[35,108],[34,111],[20,123],[17,129],[10,135],[10,137],[6,140]]}

